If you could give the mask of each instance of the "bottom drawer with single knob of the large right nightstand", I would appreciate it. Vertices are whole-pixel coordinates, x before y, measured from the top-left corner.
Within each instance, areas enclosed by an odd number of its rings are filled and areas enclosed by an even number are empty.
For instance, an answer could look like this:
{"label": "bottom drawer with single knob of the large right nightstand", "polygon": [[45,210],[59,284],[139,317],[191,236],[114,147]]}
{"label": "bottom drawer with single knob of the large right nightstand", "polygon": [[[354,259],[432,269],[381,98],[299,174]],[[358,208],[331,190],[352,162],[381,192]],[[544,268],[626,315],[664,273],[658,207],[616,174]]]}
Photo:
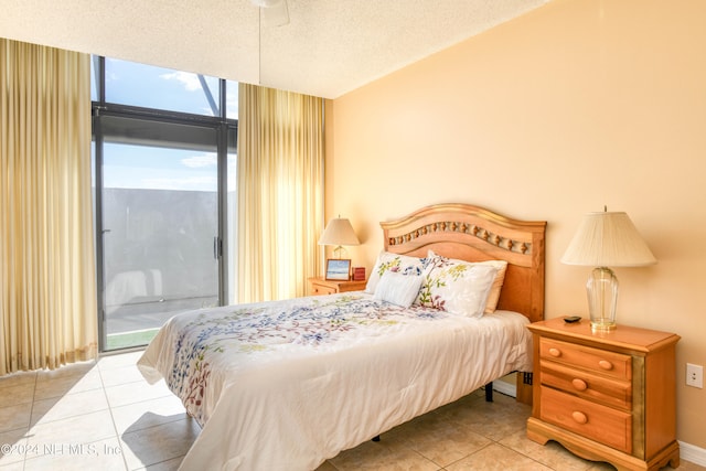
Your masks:
{"label": "bottom drawer with single knob of the large right nightstand", "polygon": [[541,419],[582,437],[632,452],[632,416],[542,386]]}

